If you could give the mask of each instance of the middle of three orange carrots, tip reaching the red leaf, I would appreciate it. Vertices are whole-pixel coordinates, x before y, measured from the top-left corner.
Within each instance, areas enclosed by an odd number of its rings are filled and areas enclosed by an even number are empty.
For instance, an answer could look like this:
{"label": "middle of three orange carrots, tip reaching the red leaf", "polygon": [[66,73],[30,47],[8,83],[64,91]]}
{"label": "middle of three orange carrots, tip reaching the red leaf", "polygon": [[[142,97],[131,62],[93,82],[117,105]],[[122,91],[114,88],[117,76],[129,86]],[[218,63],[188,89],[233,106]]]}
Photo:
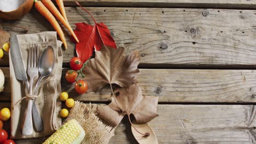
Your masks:
{"label": "middle of three orange carrots, tip reaching the red leaf", "polygon": [[60,11],[55,7],[54,3],[51,2],[51,0],[42,0],[43,4],[45,5],[46,8],[48,8],[51,13],[54,14],[54,16],[60,20],[60,22],[68,29],[68,31],[71,33],[71,35],[74,37],[75,41],[79,43],[79,40],[75,33],[73,32],[73,29],[69,25],[69,23],[64,19],[64,17],[61,15]]}

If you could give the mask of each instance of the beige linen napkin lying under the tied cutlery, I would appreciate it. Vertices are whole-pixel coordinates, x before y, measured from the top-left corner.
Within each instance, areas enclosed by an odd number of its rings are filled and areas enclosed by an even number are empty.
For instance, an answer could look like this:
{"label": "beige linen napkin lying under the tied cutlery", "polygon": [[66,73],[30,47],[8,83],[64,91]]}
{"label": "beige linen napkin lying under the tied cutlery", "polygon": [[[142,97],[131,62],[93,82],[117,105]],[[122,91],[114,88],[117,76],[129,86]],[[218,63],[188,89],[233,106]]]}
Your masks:
{"label": "beige linen napkin lying under the tied cutlery", "polygon": [[[38,98],[36,101],[37,109],[43,119],[43,131],[33,131],[32,135],[22,135],[21,125],[27,109],[25,97],[25,83],[16,80],[14,67],[11,62],[11,55],[9,55],[10,62],[10,82],[11,82],[11,139],[27,139],[32,137],[43,137],[53,134],[54,131],[61,126],[61,118],[59,112],[61,110],[61,100],[59,95],[61,93],[61,73],[62,73],[62,51],[61,41],[57,40],[56,32],[43,32],[37,34],[24,34],[17,35],[21,55],[24,61],[25,68],[27,69],[28,49],[37,44],[40,53],[43,52],[47,45],[53,46],[55,50],[55,66],[53,73],[45,77],[38,88]],[[36,82],[40,74],[34,78],[33,92]]]}

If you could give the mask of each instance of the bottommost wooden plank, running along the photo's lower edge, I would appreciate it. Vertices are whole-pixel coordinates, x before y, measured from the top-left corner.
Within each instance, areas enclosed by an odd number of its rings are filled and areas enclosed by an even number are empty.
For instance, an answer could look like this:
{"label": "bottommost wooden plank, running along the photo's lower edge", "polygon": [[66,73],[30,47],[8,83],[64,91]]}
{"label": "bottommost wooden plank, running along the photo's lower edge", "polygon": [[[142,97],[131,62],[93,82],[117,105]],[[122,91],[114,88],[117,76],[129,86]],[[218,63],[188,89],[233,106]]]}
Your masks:
{"label": "bottommost wooden plank, running along the photo's lower edge", "polygon": [[[149,124],[159,143],[238,144],[256,141],[253,105],[158,105],[158,113],[159,117]],[[118,125],[109,143],[137,143],[127,118]]]}

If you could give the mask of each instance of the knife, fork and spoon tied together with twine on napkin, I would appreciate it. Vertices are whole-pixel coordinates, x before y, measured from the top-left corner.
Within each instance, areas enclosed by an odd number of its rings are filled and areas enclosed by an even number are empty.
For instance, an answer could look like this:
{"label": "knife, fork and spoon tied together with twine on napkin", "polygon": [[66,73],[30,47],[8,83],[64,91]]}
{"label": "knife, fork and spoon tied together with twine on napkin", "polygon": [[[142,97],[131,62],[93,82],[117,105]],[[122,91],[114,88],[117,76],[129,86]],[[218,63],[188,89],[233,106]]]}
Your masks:
{"label": "knife, fork and spoon tied together with twine on napkin", "polygon": [[[40,81],[51,75],[55,64],[55,51],[50,45],[46,46],[39,57],[38,45],[32,44],[28,49],[28,61],[27,61],[27,71],[25,70],[24,62],[22,61],[21,50],[19,47],[19,42],[16,35],[12,35],[10,38],[10,55],[11,61],[14,67],[14,73],[17,80],[24,81],[28,94],[31,97],[37,95],[37,90]],[[33,93],[33,80],[34,77],[40,73],[40,77],[36,83]],[[27,75],[30,77],[30,82],[28,83]],[[25,114],[24,122],[22,124],[22,134],[32,135],[33,133],[33,123],[36,131],[43,130],[42,118],[39,115],[36,104],[34,103],[36,99],[28,100],[27,111]],[[33,117],[33,118],[32,118]],[[32,122],[33,119],[33,122]]]}

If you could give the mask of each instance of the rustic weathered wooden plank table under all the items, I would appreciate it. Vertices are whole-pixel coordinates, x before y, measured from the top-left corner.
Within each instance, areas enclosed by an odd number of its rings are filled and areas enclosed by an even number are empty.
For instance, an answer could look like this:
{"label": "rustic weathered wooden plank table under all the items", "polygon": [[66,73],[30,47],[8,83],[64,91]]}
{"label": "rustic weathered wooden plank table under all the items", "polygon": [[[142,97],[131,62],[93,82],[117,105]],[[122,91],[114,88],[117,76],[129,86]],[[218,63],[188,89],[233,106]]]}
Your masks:
{"label": "rustic weathered wooden plank table under all the items", "polygon": [[[80,0],[96,21],[104,21],[118,46],[126,53],[138,50],[144,95],[160,96],[159,117],[150,122],[159,143],[256,143],[256,1],[203,0]],[[73,23],[93,24],[90,16],[65,1]],[[36,9],[20,20],[2,20],[10,34],[54,31]],[[1,37],[1,35],[0,35]],[[74,56],[74,44],[66,36],[63,74]],[[10,107],[9,58],[0,68],[5,89],[0,108]],[[78,95],[62,78],[62,91],[85,103],[110,101],[108,87]],[[9,128],[5,122],[5,129]],[[31,143],[40,143],[34,139]],[[17,143],[28,143],[27,140]],[[127,118],[110,143],[136,143]]]}

